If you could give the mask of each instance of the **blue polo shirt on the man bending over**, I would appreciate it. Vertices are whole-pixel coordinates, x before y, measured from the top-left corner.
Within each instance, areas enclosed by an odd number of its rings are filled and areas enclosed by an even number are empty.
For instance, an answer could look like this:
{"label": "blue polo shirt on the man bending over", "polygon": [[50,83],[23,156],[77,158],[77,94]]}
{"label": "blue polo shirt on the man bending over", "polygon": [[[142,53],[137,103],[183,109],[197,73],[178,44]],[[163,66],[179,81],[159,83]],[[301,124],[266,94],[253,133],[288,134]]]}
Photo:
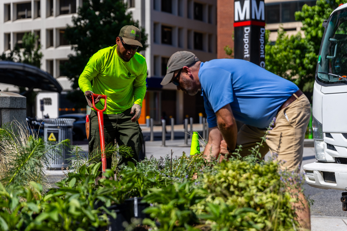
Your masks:
{"label": "blue polo shirt on the man bending over", "polygon": [[293,82],[240,59],[201,62],[198,75],[209,127],[217,126],[215,112],[229,104],[237,121],[266,128],[299,90]]}

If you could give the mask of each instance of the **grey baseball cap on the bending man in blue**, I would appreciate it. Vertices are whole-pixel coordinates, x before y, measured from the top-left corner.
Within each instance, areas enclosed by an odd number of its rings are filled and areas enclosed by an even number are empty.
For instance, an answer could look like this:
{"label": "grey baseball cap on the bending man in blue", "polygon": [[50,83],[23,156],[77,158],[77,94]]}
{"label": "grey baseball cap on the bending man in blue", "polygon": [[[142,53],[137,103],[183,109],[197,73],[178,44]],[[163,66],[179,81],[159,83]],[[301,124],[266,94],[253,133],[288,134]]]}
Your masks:
{"label": "grey baseball cap on the bending man in blue", "polygon": [[177,51],[171,55],[166,69],[166,75],[161,81],[161,85],[167,85],[174,78],[174,72],[183,68],[184,66],[189,66],[193,63],[196,63],[199,59],[196,55],[189,51]]}

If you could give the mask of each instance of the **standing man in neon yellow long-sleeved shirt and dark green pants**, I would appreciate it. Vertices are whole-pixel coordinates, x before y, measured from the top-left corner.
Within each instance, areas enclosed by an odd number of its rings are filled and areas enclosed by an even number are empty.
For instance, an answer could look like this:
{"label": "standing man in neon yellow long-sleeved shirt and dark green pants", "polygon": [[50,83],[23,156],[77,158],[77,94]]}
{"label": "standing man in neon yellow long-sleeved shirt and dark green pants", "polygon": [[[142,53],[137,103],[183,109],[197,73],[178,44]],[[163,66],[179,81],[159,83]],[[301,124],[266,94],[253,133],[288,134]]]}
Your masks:
{"label": "standing man in neon yellow long-sleeved shirt and dark green pants", "polygon": [[[105,144],[114,144],[116,140],[119,145],[125,144],[133,150],[132,158],[120,156],[119,168],[127,165],[128,161],[134,162],[133,158],[138,161],[142,149],[143,135],[137,120],[146,92],[147,64],[145,58],[136,52],[139,46],[142,47],[140,41],[141,32],[137,27],[122,27],[116,45],[96,52],[78,79],[79,88],[92,108],[89,151],[100,150],[98,117],[91,98],[93,93],[107,95]],[[103,109],[104,100],[98,97],[95,107]],[[107,168],[111,168],[111,160],[107,158]]]}

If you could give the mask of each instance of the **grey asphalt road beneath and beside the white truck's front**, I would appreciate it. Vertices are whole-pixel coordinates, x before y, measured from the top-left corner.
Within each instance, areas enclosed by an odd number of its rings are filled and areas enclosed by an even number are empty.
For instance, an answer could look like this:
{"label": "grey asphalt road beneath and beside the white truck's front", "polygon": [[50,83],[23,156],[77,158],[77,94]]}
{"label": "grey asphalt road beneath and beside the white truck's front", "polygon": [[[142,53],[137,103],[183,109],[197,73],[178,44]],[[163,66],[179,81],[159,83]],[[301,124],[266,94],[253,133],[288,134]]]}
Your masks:
{"label": "grey asphalt road beneath and beside the white truck's front", "polygon": [[[303,154],[304,166],[307,163],[315,162],[314,148],[305,147]],[[342,203],[340,201],[342,190],[320,189],[314,188],[306,183],[304,184],[305,195],[313,200],[311,205],[311,216],[342,216],[347,217],[347,212],[342,211]]]}

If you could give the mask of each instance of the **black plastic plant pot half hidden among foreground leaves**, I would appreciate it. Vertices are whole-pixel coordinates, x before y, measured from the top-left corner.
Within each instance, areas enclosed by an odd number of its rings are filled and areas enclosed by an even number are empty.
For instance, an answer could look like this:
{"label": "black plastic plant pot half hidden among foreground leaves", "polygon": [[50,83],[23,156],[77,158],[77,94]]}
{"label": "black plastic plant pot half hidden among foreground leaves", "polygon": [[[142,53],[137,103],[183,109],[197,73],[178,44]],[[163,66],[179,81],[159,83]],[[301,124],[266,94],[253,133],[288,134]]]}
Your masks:
{"label": "black plastic plant pot half hidden among foreground leaves", "polygon": [[133,217],[144,219],[150,218],[149,214],[145,214],[142,211],[149,207],[150,205],[147,203],[141,203],[143,197],[132,197],[126,199],[124,203],[118,205],[112,205],[108,207],[109,210],[116,212],[117,217],[113,219],[113,217],[109,216],[110,224],[108,225],[106,230],[109,231],[122,231],[125,230],[123,226],[123,222],[131,223],[131,219]]}

